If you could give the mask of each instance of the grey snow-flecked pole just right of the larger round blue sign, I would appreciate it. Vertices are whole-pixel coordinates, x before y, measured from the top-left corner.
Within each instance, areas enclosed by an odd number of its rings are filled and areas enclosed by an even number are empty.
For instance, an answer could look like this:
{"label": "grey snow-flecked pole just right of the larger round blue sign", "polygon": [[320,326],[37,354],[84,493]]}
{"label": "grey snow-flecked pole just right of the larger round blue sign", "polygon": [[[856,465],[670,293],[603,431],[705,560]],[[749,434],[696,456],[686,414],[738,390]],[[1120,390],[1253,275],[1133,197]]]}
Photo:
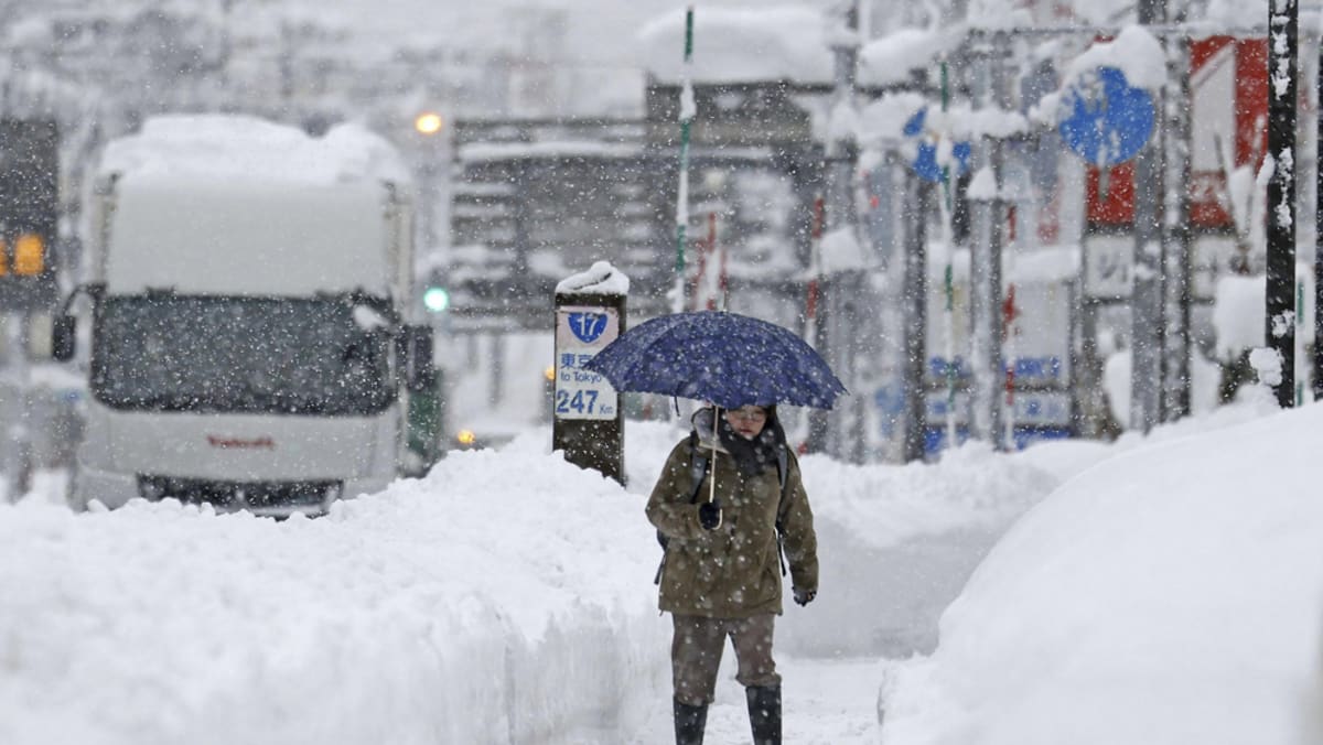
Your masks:
{"label": "grey snow-flecked pole just right of the larger round blue sign", "polygon": [[[1139,0],[1140,25],[1162,25],[1167,20],[1166,0]],[[1155,109],[1163,111],[1164,91],[1154,91]],[[1162,122],[1160,114],[1156,118]],[[1158,423],[1162,412],[1163,380],[1163,266],[1162,135],[1154,132],[1135,156],[1135,283],[1130,298],[1130,426],[1144,433]]]}

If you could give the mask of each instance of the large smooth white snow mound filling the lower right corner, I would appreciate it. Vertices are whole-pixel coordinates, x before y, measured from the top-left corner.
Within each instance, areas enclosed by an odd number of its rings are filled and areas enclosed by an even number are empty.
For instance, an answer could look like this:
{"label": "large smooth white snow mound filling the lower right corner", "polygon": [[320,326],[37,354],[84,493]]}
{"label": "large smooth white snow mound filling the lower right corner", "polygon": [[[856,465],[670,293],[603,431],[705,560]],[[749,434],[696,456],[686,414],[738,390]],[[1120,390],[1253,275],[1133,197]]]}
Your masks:
{"label": "large smooth white snow mound filling the lower right corner", "polygon": [[1310,741],[1320,449],[1323,406],[1308,406],[1070,480],[979,566],[937,652],[894,671],[882,740]]}

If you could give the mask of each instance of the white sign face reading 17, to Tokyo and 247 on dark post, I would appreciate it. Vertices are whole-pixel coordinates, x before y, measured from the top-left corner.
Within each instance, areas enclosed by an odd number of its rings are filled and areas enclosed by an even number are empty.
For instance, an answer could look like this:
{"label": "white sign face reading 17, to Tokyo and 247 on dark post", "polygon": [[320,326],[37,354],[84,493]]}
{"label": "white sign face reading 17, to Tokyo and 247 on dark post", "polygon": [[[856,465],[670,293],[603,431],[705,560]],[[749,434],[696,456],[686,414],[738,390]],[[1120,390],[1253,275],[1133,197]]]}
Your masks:
{"label": "white sign face reading 17, to Tokyo and 247 on dark post", "polygon": [[583,365],[620,335],[620,314],[601,306],[561,306],[556,310],[556,417],[614,419],[615,389]]}

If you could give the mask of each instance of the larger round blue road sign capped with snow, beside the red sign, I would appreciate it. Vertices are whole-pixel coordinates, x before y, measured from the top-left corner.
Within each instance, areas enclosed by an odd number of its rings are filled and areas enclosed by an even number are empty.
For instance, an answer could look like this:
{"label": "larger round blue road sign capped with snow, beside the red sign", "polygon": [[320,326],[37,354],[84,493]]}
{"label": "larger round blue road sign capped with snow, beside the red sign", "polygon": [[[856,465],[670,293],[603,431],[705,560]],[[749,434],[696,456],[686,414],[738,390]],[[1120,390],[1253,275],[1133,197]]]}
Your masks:
{"label": "larger round blue road sign capped with snow, beside the red sign", "polygon": [[1091,165],[1110,168],[1134,157],[1154,131],[1154,99],[1117,67],[1098,67],[1061,98],[1061,139]]}

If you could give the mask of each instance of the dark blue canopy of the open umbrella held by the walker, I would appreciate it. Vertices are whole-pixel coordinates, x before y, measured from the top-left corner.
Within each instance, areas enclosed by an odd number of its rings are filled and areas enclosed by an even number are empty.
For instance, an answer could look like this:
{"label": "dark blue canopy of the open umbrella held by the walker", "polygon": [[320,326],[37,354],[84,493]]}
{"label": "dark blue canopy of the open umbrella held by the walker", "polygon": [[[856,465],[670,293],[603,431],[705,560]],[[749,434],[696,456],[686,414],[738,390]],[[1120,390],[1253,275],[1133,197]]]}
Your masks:
{"label": "dark blue canopy of the open umbrella held by the walker", "polygon": [[615,339],[586,369],[617,390],[831,409],[845,386],[812,347],[779,326],[724,311],[655,318]]}

